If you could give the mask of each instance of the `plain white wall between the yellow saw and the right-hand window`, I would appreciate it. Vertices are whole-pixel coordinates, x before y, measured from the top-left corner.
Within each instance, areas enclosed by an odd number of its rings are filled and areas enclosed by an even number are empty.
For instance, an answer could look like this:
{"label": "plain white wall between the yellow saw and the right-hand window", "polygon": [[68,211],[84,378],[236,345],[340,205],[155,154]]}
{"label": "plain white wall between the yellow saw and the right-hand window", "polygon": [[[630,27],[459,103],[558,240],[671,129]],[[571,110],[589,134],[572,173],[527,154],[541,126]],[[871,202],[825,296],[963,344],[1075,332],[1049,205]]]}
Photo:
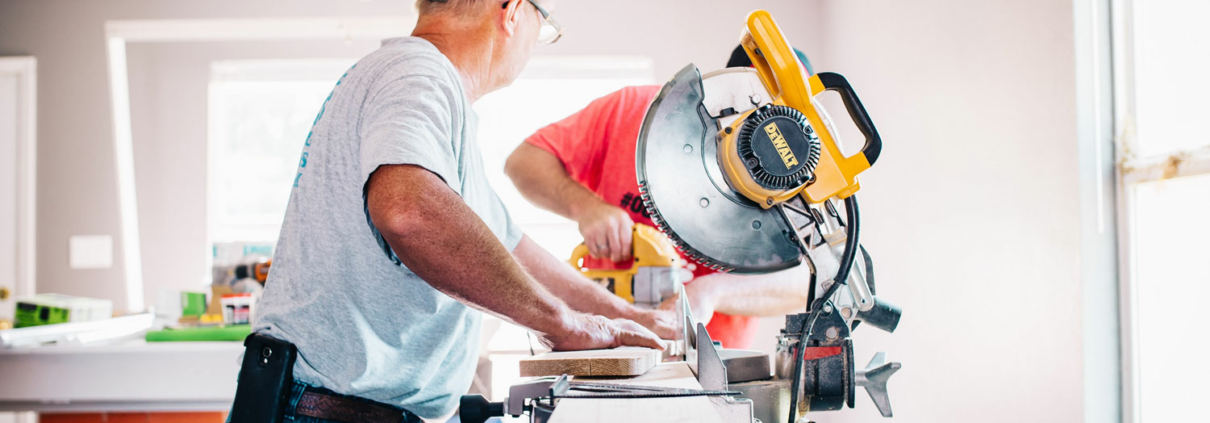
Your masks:
{"label": "plain white wall between the yellow saw and the right-hand window", "polygon": [[[904,363],[900,422],[1079,422],[1079,190],[1070,1],[829,1],[817,70],[843,74],[882,134],[863,243]],[[834,112],[834,117],[842,114]],[[824,422],[880,422],[864,411]]]}

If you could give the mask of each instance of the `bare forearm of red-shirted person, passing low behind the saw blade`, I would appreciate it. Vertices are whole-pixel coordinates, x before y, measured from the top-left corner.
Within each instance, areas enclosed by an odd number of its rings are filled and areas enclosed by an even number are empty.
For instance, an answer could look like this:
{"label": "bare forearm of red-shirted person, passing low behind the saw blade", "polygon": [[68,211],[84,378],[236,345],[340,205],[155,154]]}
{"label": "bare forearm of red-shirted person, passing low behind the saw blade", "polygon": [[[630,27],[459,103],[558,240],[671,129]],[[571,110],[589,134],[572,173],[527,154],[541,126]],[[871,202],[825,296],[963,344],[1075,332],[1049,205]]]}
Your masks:
{"label": "bare forearm of red-shirted person, passing low behind the saw blade", "polygon": [[800,313],[807,308],[811,271],[806,265],[786,271],[738,276],[715,273],[691,282],[690,299],[704,295],[714,311],[732,315],[771,317]]}

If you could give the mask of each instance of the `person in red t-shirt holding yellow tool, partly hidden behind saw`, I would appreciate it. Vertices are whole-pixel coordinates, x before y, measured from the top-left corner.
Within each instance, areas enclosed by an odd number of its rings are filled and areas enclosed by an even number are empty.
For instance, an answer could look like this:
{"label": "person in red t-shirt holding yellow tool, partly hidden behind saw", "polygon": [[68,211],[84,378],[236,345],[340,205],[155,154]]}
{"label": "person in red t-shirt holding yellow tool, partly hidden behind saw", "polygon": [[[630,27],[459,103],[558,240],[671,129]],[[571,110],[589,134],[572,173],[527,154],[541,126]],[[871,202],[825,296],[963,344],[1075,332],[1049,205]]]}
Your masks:
{"label": "person in red t-shirt holding yellow tool, partly hidden behind saw", "polygon": [[[811,74],[806,57],[799,59]],[[742,47],[727,68],[751,66]],[[653,225],[639,197],[635,144],[647,105],[659,86],[626,87],[594,100],[583,110],[525,139],[508,157],[505,173],[525,198],[575,220],[597,260],[593,268],[630,260],[635,222]],[[685,285],[698,321],[725,348],[750,348],[756,318],[796,313],[806,308],[811,279],[807,266],[764,276],[715,273],[693,266]]]}

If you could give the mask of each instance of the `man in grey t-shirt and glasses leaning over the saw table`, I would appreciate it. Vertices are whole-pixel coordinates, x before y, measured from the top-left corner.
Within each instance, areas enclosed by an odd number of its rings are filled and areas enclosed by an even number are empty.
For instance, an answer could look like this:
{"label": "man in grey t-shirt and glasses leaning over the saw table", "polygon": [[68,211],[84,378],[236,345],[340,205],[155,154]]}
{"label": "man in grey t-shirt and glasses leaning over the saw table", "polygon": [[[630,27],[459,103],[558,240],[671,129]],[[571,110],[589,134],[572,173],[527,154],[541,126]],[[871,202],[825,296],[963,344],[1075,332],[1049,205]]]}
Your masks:
{"label": "man in grey t-shirt and glasses leaning over the saw table", "polygon": [[488,184],[471,103],[511,83],[553,25],[540,4],[420,0],[413,36],[384,41],[324,102],[255,318],[298,347],[299,387],[448,416],[480,311],[555,349],[674,336],[670,312],[634,308],[526,238]]}

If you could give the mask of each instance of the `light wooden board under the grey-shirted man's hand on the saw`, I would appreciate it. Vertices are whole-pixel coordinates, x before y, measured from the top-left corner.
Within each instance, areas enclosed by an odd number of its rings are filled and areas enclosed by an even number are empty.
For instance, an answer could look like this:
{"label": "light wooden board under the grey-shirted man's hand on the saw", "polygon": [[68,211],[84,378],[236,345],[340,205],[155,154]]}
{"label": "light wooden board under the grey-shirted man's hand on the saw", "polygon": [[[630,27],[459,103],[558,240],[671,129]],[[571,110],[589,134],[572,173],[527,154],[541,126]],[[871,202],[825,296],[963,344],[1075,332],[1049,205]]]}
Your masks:
{"label": "light wooden board under the grey-shirted man's hand on the saw", "polygon": [[659,364],[663,353],[651,348],[551,352],[520,361],[522,377],[639,376]]}

